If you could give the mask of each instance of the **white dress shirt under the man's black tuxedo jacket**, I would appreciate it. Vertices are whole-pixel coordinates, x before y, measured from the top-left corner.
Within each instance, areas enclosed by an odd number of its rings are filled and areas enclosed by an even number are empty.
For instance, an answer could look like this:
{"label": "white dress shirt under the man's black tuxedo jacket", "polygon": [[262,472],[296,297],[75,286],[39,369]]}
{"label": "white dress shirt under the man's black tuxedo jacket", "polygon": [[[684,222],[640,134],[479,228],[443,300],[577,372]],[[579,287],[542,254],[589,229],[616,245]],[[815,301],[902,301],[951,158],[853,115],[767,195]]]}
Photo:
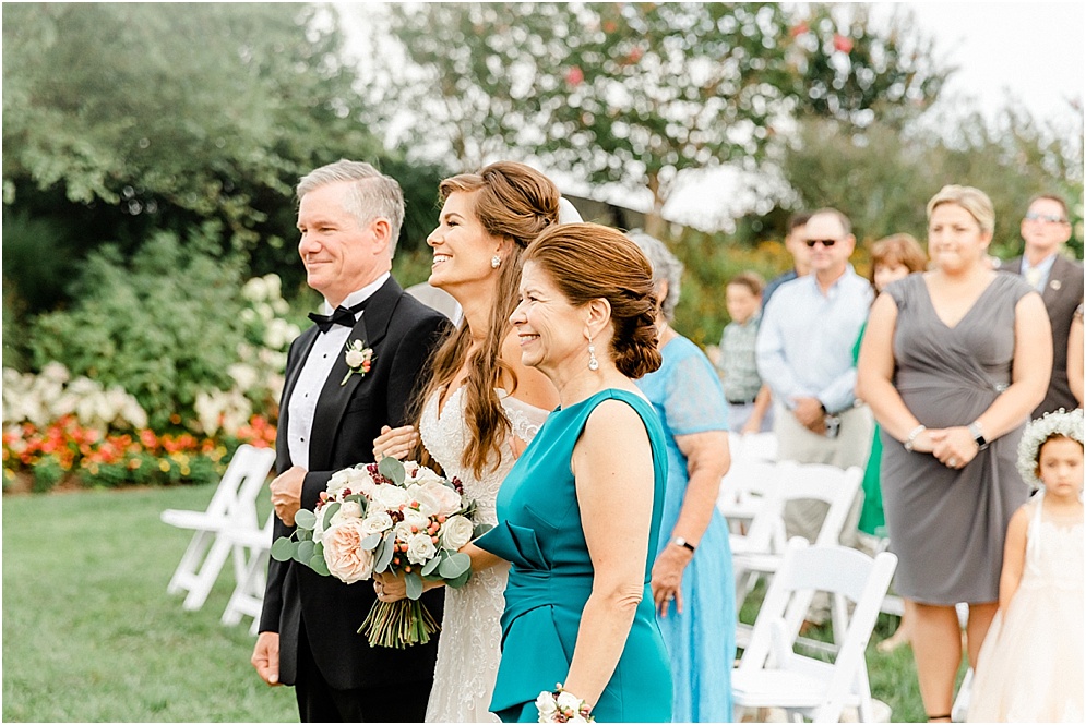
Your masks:
{"label": "white dress shirt under the man's black tuxedo jacket", "polygon": [[[390,276],[390,273],[385,273],[377,281],[351,292],[343,301],[342,306],[351,307],[368,300],[381,289]],[[324,300],[321,313],[332,314],[333,310],[335,307],[329,304],[327,300]],[[357,321],[362,314],[362,312],[357,313],[355,319]],[[290,391],[290,400],[287,401],[287,449],[290,451],[290,462],[307,471],[309,470],[309,443],[313,433],[317,401],[332,373],[336,357],[345,353],[350,333],[351,328],[346,325],[333,325],[327,333],[317,333],[317,340],[309,350],[309,357],[302,364],[298,382],[295,384],[294,390]]]}

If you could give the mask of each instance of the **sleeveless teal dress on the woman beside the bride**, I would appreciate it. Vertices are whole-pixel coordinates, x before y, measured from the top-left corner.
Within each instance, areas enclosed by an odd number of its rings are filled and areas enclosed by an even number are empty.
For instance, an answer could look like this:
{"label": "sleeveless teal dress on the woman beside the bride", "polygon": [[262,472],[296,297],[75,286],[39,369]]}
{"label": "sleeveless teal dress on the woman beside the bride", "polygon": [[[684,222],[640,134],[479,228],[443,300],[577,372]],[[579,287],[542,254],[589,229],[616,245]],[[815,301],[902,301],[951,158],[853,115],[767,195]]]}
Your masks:
{"label": "sleeveless teal dress on the woman beside the bride", "polygon": [[671,720],[671,673],[648,585],[667,482],[664,431],[646,400],[608,389],[550,414],[498,492],[497,528],[476,541],[513,565],[501,618],[502,657],[490,703],[503,722],[536,722],[536,698],[564,682],[570,672],[581,613],[593,584],[570,460],[588,415],[610,399],[633,408],[648,431],[655,496],[644,596],[593,715],[611,723]]}

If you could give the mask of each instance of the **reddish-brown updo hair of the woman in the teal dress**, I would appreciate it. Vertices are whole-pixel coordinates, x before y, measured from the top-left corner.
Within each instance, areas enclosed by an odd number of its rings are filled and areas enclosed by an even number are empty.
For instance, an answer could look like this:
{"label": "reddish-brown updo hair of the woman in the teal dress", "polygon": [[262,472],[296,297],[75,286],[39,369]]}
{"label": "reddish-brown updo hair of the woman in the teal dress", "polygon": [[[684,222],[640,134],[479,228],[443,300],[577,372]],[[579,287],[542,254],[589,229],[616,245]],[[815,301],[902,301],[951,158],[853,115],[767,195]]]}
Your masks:
{"label": "reddish-brown updo hair of the woman in the teal dress", "polygon": [[634,242],[600,225],[562,225],[532,242],[529,259],[572,305],[598,299],[611,305],[609,352],[620,373],[639,378],[659,368],[653,266]]}

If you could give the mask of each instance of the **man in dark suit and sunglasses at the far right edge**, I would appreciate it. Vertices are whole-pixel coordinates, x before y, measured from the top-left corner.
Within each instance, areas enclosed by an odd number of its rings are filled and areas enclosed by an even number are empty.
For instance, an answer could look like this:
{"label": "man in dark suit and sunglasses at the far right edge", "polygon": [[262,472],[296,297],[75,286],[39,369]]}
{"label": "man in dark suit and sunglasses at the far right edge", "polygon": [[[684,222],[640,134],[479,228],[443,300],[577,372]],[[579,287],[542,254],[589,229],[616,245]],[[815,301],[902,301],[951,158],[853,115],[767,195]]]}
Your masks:
{"label": "man in dark suit and sunglasses at the far right edge", "polygon": [[1071,239],[1067,204],[1055,194],[1041,194],[1029,202],[1022,220],[1022,239],[1026,246],[1021,257],[1000,265],[1000,269],[1022,275],[1041,293],[1052,323],[1052,377],[1048,392],[1034,418],[1078,402],[1067,385],[1067,336],[1075,307],[1083,301],[1083,265],[1060,253]]}

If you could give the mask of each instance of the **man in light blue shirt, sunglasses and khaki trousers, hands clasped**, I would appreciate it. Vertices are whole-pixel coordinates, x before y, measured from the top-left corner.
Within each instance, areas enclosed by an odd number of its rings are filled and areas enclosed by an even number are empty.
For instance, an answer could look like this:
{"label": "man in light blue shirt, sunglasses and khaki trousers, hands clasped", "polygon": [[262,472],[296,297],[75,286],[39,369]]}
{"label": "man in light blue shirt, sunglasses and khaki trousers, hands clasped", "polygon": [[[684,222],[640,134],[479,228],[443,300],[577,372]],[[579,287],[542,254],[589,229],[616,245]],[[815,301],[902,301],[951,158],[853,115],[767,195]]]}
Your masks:
{"label": "man in light blue shirt, sunglasses and khaki trousers, hands clasped", "polygon": [[[844,214],[815,212],[805,235],[811,274],[781,285],[773,295],[755,346],[759,374],[776,406],[777,455],[800,463],[862,469],[871,451],[873,421],[854,392],[852,347],[871,306],[871,285],[848,262],[856,238]],[[856,541],[861,500],[846,521],[844,543]],[[826,506],[799,504],[786,508],[787,533],[813,542]]]}

